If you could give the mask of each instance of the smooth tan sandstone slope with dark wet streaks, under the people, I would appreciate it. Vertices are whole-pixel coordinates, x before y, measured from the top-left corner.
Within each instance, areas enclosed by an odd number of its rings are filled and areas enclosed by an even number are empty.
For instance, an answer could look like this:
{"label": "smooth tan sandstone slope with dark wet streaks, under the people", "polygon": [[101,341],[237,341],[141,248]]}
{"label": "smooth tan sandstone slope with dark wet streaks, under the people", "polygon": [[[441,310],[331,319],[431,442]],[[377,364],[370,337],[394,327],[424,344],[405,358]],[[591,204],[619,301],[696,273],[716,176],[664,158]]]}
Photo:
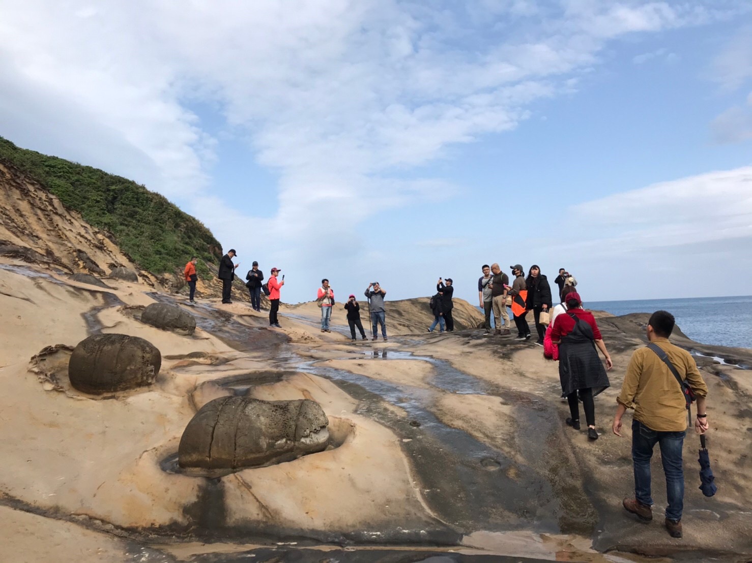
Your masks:
{"label": "smooth tan sandstone slope with dark wet streaks, under the people", "polygon": [[[629,355],[644,344],[645,315],[599,318],[615,366],[612,387],[596,399],[602,435],[590,442],[564,425],[557,367],[541,348],[480,330],[427,335],[423,300],[390,304],[389,342],[350,343],[344,312],[334,312],[332,333],[320,333],[314,304],[284,307],[284,328],[275,330],[265,312],[243,303],[188,307],[184,297],[147,285],[107,281],[110,290],[20,263],[0,267],[8,342],[0,352],[2,560],[23,553],[30,561],[743,561],[752,554],[752,379],[742,369],[752,366],[752,351],[675,339],[702,354],[720,489],[711,499],[696,489],[689,435],[684,539],[674,540],[661,525],[660,456],[654,519],[643,525],[620,507],[632,487],[629,428],[623,438],[610,432]],[[138,307],[153,301],[185,306],[196,334],[141,324]],[[65,385],[63,349],[44,364],[62,382],[58,390],[40,369],[29,371],[42,348],[72,347],[99,332],[156,345],[156,384],[105,399],[78,393]],[[335,447],[214,479],[173,471],[186,423],[226,394],[314,399]]]}

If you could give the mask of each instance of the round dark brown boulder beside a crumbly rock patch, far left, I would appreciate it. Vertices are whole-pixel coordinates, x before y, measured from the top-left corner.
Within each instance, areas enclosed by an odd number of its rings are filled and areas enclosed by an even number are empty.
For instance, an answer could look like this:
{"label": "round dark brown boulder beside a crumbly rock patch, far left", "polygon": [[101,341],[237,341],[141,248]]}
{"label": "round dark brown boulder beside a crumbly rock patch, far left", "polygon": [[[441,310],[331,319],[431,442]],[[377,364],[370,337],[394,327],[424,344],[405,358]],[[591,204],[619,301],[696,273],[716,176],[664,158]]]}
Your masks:
{"label": "round dark brown boulder beside a crumbly rock patch, far left", "polygon": [[96,334],[74,348],[68,364],[71,385],[83,393],[101,395],[151,385],[162,355],[138,336]]}

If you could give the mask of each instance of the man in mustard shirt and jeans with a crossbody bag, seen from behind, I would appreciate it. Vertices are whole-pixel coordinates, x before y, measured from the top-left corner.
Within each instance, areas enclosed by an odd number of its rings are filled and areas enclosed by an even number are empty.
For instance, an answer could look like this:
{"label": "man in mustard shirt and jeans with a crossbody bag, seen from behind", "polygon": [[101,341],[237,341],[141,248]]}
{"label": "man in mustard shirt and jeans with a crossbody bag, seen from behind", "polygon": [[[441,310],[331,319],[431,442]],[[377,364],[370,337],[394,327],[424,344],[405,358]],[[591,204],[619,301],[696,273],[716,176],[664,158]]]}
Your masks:
{"label": "man in mustard shirt and jeans with a crossbody bag, seen from behind", "polygon": [[[647,340],[666,352],[684,381],[696,396],[695,431],[708,429],[705,396],[708,387],[702,381],[697,364],[686,350],[669,342],[674,330],[674,315],[656,311],[647,323]],[[687,434],[687,401],[679,382],[658,355],[650,348],[632,354],[626,369],[613,431],[621,435],[621,417],[627,408],[634,408],[632,417],[632,462],[635,469],[635,498],[625,498],[623,506],[641,520],[653,519],[653,498],[650,496],[650,458],[653,447],[660,445],[663,472],[666,474],[666,529],[672,537],[681,537],[681,511],[684,508],[684,470],[681,450]]]}

